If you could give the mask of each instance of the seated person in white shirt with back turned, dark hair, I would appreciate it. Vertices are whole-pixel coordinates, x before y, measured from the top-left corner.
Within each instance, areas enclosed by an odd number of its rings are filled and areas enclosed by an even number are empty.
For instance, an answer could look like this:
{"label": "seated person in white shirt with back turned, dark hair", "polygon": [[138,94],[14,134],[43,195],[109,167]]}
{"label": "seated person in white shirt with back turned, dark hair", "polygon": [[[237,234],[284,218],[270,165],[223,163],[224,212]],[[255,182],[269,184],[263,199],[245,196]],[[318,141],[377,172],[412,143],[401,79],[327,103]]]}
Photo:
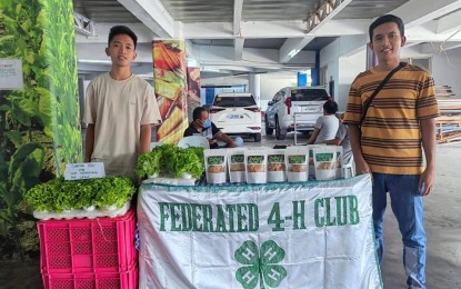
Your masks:
{"label": "seated person in white shirt with back turned, dark hair", "polygon": [[333,100],[327,100],[323,103],[323,116],[317,119],[308,144],[322,143],[325,140],[334,139],[339,128],[339,119],[334,113],[338,111],[338,103]]}

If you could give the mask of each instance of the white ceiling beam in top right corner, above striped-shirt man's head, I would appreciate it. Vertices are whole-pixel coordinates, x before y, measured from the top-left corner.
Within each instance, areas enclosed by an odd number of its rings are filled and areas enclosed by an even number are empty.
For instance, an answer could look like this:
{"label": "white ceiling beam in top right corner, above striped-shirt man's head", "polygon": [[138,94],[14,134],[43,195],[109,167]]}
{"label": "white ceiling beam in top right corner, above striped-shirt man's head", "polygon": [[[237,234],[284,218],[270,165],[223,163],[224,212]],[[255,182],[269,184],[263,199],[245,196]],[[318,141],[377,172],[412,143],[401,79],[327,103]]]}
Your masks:
{"label": "white ceiling beam in top right corner, above striped-shirt man's head", "polygon": [[459,0],[410,0],[390,13],[402,18],[405,28],[413,28],[460,8]]}

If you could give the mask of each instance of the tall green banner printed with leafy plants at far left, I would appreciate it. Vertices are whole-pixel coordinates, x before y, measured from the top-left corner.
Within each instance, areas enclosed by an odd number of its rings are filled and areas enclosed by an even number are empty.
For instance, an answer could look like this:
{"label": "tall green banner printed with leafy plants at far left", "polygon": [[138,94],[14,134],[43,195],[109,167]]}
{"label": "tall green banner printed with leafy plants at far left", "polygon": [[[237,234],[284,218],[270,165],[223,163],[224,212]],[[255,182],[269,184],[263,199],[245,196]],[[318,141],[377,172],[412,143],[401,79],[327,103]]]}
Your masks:
{"label": "tall green banner printed with leafy plants at far left", "polygon": [[[22,196],[82,160],[73,21],[71,0],[0,1],[0,62],[17,68],[0,72],[2,259],[37,256],[36,220]],[[4,83],[11,72],[22,86]]]}

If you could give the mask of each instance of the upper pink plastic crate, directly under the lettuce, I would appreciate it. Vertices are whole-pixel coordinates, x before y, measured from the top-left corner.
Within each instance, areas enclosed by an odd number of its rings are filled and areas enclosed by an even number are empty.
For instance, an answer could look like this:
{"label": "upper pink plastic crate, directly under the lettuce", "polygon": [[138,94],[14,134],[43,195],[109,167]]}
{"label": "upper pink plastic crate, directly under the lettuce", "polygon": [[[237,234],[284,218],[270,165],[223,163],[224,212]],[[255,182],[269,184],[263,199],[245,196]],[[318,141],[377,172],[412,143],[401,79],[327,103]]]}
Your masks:
{"label": "upper pink plastic crate, directly under the lettuce", "polygon": [[121,272],[137,262],[136,215],[37,223],[44,275]]}

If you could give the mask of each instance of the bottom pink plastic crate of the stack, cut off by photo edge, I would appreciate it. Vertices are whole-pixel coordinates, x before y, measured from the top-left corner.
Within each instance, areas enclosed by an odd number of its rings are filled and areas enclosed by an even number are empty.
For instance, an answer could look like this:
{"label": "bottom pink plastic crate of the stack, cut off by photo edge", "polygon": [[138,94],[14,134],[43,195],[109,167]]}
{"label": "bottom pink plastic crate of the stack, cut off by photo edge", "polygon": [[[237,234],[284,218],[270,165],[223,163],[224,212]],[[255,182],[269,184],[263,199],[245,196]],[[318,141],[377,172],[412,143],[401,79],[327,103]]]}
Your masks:
{"label": "bottom pink plastic crate of the stack, cut off by photo edge", "polygon": [[136,289],[138,268],[122,272],[42,275],[44,289]]}

